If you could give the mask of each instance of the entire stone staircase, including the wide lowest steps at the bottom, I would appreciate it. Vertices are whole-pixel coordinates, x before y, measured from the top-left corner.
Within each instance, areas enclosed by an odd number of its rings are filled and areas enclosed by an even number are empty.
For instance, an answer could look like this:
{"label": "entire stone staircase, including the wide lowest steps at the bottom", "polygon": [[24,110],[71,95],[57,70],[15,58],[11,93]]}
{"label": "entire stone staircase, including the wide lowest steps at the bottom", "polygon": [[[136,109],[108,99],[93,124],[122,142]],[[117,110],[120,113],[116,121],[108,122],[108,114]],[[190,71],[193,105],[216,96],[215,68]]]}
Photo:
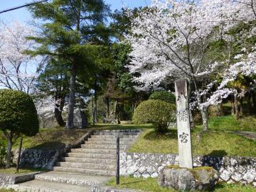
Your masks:
{"label": "entire stone staircase, including the wide lowest steps at the bottom", "polygon": [[35,176],[35,180],[20,183],[16,191],[78,192],[102,186],[116,172],[116,141],[120,137],[120,152],[131,146],[140,130],[95,131],[78,149],[61,158],[53,171]]}

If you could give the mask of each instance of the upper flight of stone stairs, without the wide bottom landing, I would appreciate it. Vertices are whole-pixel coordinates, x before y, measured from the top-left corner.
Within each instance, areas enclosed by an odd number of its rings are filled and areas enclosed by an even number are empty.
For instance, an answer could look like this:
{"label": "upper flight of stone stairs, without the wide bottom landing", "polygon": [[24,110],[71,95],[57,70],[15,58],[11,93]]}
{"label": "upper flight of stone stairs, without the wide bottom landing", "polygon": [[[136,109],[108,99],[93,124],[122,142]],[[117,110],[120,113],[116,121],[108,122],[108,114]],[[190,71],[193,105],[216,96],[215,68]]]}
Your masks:
{"label": "upper flight of stone stairs, without the wide bottom landing", "polygon": [[139,134],[138,130],[96,131],[79,149],[71,149],[54,171],[66,171],[94,176],[114,176],[116,170],[117,135],[120,152],[129,148]]}

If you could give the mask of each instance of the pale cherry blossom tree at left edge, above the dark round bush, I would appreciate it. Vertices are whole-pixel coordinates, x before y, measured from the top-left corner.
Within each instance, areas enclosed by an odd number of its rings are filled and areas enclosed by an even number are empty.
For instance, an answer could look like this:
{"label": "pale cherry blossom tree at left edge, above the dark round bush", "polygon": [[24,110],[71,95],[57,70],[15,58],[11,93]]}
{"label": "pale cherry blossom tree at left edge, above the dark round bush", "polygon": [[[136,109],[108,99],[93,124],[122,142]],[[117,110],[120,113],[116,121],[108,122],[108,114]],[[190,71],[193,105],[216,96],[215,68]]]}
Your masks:
{"label": "pale cherry blossom tree at left edge, above the dark round bush", "polygon": [[32,28],[25,23],[0,23],[0,86],[30,93],[42,68],[41,57],[32,58],[24,51],[36,44],[28,41]]}

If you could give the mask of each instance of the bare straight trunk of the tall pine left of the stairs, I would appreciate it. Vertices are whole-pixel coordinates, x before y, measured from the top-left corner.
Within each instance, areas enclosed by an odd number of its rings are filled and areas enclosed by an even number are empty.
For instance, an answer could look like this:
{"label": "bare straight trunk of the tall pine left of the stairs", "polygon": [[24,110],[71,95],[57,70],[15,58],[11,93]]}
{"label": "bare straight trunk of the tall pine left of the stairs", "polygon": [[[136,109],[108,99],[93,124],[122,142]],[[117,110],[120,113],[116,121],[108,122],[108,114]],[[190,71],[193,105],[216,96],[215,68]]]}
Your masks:
{"label": "bare straight trunk of the tall pine left of the stairs", "polygon": [[68,122],[67,128],[74,129],[74,107],[75,107],[75,64],[72,65],[72,71],[70,76],[70,92],[68,95]]}

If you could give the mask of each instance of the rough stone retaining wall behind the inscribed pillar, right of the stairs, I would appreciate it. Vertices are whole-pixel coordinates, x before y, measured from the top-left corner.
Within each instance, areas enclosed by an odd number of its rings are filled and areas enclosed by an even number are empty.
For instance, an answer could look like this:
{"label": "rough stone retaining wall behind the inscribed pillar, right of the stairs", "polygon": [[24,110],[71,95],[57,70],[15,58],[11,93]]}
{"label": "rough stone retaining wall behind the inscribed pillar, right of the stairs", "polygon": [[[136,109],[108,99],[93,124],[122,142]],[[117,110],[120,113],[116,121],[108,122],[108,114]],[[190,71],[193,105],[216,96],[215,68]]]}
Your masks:
{"label": "rough stone retaining wall behind the inscribed pillar, right of the stairs", "polygon": [[[120,174],[135,177],[157,177],[164,166],[178,164],[176,154],[120,154]],[[256,186],[256,157],[194,156],[193,166],[213,166],[219,173],[219,181],[245,183]]]}

